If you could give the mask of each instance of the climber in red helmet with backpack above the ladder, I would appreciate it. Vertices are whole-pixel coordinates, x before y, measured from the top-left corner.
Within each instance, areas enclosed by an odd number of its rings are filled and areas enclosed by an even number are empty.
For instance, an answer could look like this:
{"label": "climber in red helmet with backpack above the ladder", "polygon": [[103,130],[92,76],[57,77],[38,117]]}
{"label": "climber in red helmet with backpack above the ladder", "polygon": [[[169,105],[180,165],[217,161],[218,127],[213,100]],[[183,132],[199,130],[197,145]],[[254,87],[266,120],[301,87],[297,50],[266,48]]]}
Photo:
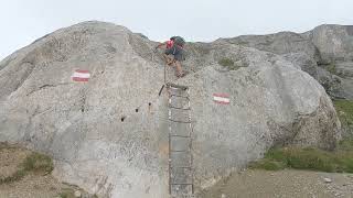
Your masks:
{"label": "climber in red helmet with backpack above the ladder", "polygon": [[[168,65],[175,65],[176,77],[183,77],[185,75],[181,67],[181,62],[183,61],[184,44],[185,41],[183,37],[172,36],[169,41],[156,46],[156,51],[162,46],[165,46],[163,57],[165,58]],[[170,55],[173,55],[173,57],[170,57]]]}

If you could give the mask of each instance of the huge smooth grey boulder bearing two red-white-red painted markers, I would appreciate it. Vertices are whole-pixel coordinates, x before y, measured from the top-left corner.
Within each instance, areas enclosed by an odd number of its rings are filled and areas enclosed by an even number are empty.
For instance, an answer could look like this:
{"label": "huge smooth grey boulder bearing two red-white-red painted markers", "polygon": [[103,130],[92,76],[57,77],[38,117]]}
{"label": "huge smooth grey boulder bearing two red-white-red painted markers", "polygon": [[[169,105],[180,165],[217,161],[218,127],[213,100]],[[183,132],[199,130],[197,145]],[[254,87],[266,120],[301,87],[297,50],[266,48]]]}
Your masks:
{"label": "huge smooth grey boulder bearing two red-white-red painted markers", "polygon": [[[103,197],[168,195],[168,110],[156,43],[109,23],[58,30],[0,63],[0,140],[55,158],[54,175]],[[270,52],[188,44],[196,189],[272,145],[333,148],[340,122],[321,85]],[[232,58],[228,70],[217,63]],[[73,82],[88,69],[88,82]],[[231,96],[231,105],[213,94]]]}

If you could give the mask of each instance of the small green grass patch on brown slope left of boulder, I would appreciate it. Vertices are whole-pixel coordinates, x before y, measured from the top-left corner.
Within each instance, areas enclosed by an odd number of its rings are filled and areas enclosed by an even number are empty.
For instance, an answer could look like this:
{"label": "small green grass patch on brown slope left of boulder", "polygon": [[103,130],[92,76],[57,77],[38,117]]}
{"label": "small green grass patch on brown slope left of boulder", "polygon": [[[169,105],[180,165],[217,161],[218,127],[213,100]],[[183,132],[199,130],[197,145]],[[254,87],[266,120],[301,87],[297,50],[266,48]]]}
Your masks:
{"label": "small green grass patch on brown slope left of boulder", "polygon": [[30,173],[49,174],[54,169],[54,165],[51,157],[40,153],[31,153],[24,158],[24,161],[18,168],[19,169],[12,175],[0,178],[0,185],[21,180],[25,175]]}

